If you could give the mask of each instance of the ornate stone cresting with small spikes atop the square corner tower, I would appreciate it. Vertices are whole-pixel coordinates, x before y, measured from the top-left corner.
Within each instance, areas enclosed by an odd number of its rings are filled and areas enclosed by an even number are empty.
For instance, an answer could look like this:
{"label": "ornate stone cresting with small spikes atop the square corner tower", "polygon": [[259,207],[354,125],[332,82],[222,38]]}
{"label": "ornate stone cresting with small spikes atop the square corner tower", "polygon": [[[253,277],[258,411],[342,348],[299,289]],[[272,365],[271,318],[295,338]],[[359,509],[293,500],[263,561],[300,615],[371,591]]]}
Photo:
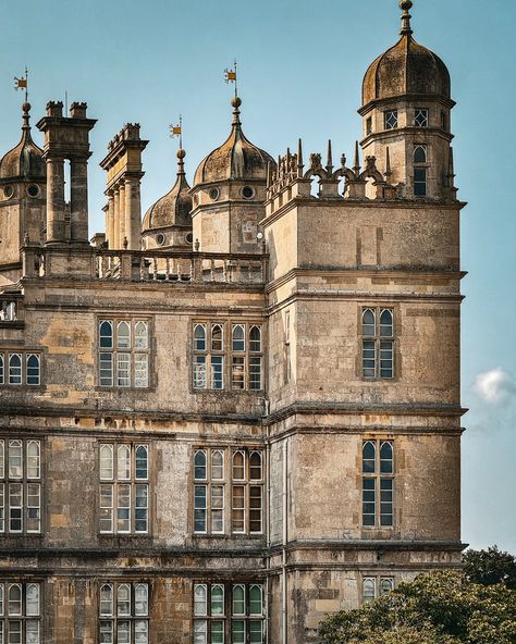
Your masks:
{"label": "ornate stone cresting with small spikes atop the square corner tower", "polygon": [[[286,191],[286,200],[293,197],[311,197],[312,177],[319,177],[319,199],[366,199],[368,179],[372,179],[372,186],[377,199],[396,199],[402,197],[403,186],[393,186],[389,183],[391,166],[389,148],[385,158],[385,172],[382,174],[377,168],[374,157],[366,157],[365,168],[360,165],[360,152],[358,141],[355,146],[355,160],[353,168],[346,166],[345,154],[341,156],[341,165],[334,169],[331,140],[328,141],[327,164],[322,165],[322,156],[319,152],[310,154],[310,165],[305,171],[303,162],[303,144],[298,143],[296,154],[287,149],[284,157],[278,160],[278,170],[269,170],[267,181],[267,197],[274,200],[280,197],[282,205],[285,201],[283,195]],[[344,189],[339,191],[341,179],[344,177]]]}

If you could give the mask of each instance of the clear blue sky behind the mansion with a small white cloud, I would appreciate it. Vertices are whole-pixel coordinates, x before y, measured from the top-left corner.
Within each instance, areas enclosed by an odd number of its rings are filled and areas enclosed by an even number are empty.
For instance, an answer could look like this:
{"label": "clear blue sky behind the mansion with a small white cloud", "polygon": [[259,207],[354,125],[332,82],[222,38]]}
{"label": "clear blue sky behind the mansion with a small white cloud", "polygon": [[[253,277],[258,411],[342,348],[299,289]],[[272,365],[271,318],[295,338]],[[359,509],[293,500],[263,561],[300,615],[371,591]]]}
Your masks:
{"label": "clear blue sky behind the mansion with a small white cloud", "polygon": [[[168,126],[184,119],[186,169],[226,136],[239,63],[248,137],[272,156],[303,137],[305,150],[353,153],[356,109],[369,63],[394,44],[395,0],[4,0],[0,22],[0,150],[19,139],[22,96],[12,78],[29,69],[33,123],[50,99],[86,100],[93,134],[90,233],[101,230],[103,158],[125,122],[150,140],[143,208],[175,176]],[[516,223],[512,207],[514,0],[415,0],[416,38],[446,62],[458,104],[453,132],[463,211],[463,540],[516,553]],[[39,133],[35,133],[40,140]],[[508,182],[508,183],[507,183]],[[507,332],[507,333],[506,333]]]}

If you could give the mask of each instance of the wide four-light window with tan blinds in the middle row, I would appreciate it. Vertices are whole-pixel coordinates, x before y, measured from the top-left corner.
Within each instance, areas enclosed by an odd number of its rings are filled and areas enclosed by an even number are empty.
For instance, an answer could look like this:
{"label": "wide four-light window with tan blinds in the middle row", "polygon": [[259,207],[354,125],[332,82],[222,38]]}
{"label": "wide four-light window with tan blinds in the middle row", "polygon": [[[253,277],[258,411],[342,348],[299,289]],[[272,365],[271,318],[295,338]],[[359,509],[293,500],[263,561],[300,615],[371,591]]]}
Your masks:
{"label": "wide four-light window with tan blinds in the middle row", "polygon": [[263,532],[262,458],[263,454],[258,449],[194,451],[196,534],[225,534],[226,520],[233,534]]}

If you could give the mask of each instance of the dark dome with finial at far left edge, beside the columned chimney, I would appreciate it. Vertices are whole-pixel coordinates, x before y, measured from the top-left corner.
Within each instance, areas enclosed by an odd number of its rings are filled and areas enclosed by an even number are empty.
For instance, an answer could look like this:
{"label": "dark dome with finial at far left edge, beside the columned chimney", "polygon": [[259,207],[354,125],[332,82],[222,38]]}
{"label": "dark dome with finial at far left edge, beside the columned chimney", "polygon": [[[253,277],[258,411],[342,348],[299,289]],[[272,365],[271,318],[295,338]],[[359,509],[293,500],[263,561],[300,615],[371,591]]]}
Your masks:
{"label": "dark dome with finial at far left edge, beside the columned chimney", "polygon": [[47,175],[47,166],[42,158],[44,151],[33,141],[30,136],[29,111],[29,103],[24,103],[22,140],[0,161],[0,178],[44,179]]}

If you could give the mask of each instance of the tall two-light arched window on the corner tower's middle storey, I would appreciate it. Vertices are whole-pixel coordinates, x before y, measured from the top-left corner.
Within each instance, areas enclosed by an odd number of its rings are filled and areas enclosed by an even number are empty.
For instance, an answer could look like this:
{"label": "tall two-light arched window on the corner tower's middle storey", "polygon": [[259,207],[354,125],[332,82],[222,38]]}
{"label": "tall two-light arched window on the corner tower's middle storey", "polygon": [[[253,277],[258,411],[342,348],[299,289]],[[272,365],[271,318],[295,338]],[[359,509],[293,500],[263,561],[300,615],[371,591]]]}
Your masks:
{"label": "tall two-light arched window on the corner tower's middle storey", "polygon": [[364,528],[392,528],[394,524],[394,445],[392,441],[363,444]]}

